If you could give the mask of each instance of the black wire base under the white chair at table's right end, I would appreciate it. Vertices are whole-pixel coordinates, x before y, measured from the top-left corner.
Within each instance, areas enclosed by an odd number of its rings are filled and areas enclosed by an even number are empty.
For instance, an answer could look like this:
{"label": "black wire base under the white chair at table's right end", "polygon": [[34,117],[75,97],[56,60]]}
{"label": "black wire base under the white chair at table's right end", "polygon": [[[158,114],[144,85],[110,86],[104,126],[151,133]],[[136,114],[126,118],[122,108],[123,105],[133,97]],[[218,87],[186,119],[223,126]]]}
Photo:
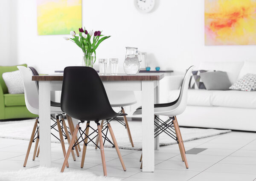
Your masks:
{"label": "black wire base under the white chair at table's right end", "polygon": [[154,118],[154,125],[156,128],[154,129],[154,138],[156,138],[158,135],[160,135],[162,132],[166,133],[168,136],[170,136],[172,139],[178,142],[178,138],[175,132],[175,129],[173,128],[173,120],[174,117],[169,118],[167,121],[163,121],[157,116]]}

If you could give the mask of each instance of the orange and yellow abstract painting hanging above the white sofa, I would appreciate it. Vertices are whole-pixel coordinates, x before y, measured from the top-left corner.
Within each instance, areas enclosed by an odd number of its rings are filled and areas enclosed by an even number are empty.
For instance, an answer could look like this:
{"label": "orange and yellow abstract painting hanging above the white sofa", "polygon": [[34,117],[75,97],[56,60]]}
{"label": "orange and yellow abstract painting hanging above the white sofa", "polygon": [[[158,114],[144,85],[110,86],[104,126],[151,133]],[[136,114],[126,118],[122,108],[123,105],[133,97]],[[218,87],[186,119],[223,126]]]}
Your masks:
{"label": "orange and yellow abstract painting hanging above the white sofa", "polygon": [[256,0],[204,0],[205,45],[255,45]]}

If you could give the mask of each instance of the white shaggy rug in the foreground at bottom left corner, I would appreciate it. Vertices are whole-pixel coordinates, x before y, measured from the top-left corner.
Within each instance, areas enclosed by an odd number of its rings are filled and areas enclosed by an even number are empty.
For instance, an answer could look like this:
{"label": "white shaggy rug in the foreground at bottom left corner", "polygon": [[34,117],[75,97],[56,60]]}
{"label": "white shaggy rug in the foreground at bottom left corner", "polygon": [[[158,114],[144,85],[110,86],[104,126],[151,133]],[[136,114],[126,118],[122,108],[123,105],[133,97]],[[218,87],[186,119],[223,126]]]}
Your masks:
{"label": "white shaggy rug in the foreground at bottom left corner", "polygon": [[120,181],[118,178],[97,176],[87,170],[39,167],[35,169],[0,172],[0,181]]}

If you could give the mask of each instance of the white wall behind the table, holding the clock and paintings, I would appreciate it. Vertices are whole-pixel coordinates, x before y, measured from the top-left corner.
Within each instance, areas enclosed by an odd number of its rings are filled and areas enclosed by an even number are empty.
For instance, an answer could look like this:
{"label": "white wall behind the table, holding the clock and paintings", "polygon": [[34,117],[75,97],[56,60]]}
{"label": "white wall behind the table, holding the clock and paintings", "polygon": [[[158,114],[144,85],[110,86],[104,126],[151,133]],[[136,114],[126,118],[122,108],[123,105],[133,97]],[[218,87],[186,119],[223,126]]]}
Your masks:
{"label": "white wall behind the table, holding the clock and paintings", "polygon": [[[142,14],[134,0],[83,0],[83,26],[112,35],[99,46],[97,57],[118,57],[120,72],[125,46],[147,52],[151,68],[176,72],[200,61],[256,60],[255,46],[204,46],[204,0],[156,2],[153,12]],[[66,35],[37,35],[35,0],[17,0],[17,17],[18,63],[40,73],[81,63],[81,50],[62,38]]]}

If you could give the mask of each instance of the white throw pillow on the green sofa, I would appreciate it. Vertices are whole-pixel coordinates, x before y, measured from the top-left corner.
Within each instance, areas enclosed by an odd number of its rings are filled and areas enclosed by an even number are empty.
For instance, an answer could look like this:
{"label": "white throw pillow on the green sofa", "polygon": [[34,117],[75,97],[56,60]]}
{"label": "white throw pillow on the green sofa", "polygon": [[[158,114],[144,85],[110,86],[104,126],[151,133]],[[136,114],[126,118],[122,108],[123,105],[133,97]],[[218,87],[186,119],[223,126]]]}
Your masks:
{"label": "white throw pillow on the green sofa", "polygon": [[9,94],[24,93],[23,80],[19,70],[3,73],[3,80],[6,83]]}

